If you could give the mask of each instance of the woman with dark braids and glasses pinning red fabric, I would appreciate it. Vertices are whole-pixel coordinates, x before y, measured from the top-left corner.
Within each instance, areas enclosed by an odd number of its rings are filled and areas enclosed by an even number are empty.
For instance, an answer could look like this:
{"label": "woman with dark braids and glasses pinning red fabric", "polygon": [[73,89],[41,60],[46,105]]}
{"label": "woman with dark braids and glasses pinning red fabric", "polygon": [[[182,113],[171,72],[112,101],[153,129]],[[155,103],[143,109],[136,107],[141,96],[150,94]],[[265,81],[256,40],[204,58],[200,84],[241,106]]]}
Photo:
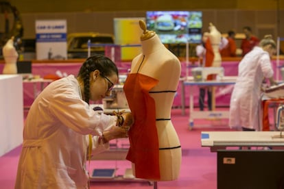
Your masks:
{"label": "woman with dark braids and glasses pinning red fabric", "polygon": [[130,114],[121,119],[88,105],[89,99],[108,96],[117,79],[115,64],[95,55],[82,64],[78,77],[54,81],[38,95],[23,130],[16,189],[88,187],[87,157],[108,149],[109,140],[127,137],[131,125],[123,122]]}

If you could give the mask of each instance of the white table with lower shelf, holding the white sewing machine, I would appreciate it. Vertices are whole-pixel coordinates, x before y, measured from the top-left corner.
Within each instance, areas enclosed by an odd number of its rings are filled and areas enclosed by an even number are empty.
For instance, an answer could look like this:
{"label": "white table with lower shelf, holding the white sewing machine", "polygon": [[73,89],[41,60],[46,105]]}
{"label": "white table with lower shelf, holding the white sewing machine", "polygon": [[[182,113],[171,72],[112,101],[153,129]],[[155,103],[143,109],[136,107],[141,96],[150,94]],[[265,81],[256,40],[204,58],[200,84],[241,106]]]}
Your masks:
{"label": "white table with lower shelf, holding the white sewing machine", "polygon": [[[237,77],[223,77],[220,81],[193,81],[193,77],[188,77],[182,81],[182,101],[184,103],[185,98],[185,86],[189,86],[189,129],[192,129],[194,119],[198,118],[228,118],[228,111],[194,111],[193,108],[193,92],[191,91],[192,86],[228,86],[234,85]],[[184,109],[184,105],[182,106]]]}

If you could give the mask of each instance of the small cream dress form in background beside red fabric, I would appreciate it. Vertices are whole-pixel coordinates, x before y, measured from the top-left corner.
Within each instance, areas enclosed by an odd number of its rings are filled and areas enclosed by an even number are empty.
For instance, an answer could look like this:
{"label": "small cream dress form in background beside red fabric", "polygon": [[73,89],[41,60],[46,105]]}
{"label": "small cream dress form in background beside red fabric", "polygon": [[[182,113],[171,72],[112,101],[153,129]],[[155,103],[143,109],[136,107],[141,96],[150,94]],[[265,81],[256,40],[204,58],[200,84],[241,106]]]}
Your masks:
{"label": "small cream dress form in background beside red fabric", "polygon": [[222,58],[220,55],[220,43],[221,43],[221,33],[216,29],[216,27],[212,24],[209,23],[209,30],[210,30],[210,35],[209,38],[211,40],[211,45],[214,53],[214,60],[212,63],[213,67],[220,67],[222,63]]}

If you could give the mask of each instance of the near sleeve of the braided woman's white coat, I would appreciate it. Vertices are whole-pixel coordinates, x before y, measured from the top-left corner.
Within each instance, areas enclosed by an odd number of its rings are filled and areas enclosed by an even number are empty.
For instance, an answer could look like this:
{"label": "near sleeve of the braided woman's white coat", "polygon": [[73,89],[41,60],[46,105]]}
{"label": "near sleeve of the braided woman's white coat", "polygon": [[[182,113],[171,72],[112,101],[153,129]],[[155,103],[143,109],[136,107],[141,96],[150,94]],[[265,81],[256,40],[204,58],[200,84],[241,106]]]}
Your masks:
{"label": "near sleeve of the braided woman's white coat", "polygon": [[75,132],[101,136],[107,127],[117,121],[117,116],[99,115],[93,111],[66,82],[61,86],[51,88],[50,92],[53,92],[53,95],[51,95],[49,111],[62,125]]}

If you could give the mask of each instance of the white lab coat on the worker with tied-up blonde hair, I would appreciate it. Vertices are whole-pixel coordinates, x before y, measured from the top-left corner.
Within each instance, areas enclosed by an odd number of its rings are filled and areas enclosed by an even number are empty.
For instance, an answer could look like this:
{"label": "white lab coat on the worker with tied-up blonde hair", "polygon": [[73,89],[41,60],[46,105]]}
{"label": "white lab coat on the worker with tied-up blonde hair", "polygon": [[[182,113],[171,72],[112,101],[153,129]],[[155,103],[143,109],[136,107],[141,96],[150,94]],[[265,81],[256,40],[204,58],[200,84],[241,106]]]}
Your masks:
{"label": "white lab coat on the worker with tied-up blonde hair", "polygon": [[229,126],[261,130],[261,84],[273,76],[268,52],[255,47],[239,63],[237,81],[230,98]]}

